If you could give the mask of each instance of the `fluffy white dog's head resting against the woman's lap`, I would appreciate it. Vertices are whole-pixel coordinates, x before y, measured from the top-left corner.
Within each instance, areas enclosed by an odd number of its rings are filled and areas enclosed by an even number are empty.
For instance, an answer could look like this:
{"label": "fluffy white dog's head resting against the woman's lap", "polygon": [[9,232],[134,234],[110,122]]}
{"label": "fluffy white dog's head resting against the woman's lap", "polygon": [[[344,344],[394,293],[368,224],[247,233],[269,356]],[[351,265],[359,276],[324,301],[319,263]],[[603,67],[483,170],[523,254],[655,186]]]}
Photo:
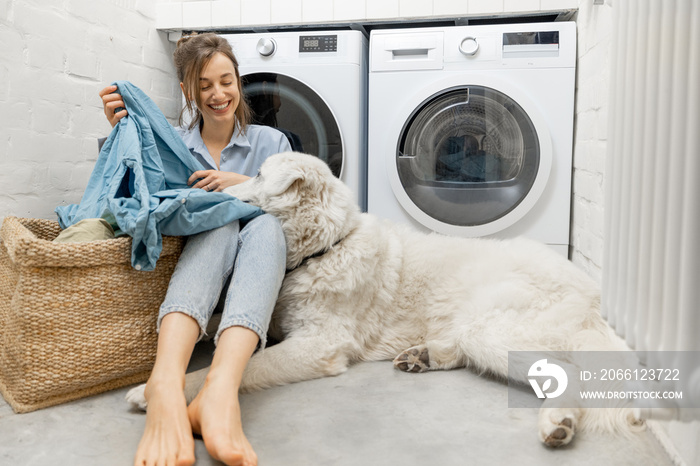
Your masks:
{"label": "fluffy white dog's head resting against the woman's lap", "polygon": [[277,217],[287,240],[287,268],[328,250],[355,228],[359,208],[350,189],[317,157],[269,157],[255,178],[224,192]]}

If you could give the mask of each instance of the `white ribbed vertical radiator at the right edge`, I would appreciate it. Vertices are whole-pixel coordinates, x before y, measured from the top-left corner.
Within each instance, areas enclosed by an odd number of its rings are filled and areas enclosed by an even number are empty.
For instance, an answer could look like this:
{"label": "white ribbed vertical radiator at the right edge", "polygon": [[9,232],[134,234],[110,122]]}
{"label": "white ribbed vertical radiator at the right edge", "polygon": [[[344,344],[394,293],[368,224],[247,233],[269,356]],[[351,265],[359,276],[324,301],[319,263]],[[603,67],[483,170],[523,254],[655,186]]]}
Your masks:
{"label": "white ribbed vertical radiator at the right edge", "polygon": [[700,350],[700,0],[615,0],[603,314],[635,350]]}

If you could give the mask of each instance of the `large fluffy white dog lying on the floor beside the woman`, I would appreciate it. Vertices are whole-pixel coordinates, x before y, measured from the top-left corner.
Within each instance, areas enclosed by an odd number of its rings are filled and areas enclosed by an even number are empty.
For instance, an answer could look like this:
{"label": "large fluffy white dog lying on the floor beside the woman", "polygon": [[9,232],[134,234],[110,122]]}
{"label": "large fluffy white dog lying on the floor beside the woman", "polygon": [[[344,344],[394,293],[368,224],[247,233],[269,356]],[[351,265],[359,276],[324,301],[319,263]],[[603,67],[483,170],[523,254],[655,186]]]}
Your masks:
{"label": "large fluffy white dog lying on the floor beside the woman", "polygon": [[[269,329],[281,343],[253,355],[242,390],[386,359],[409,372],[470,367],[507,378],[508,351],[618,349],[598,286],[544,245],[427,235],[360,213],[350,190],[309,155],[274,155],[226,192],[275,215],[287,241]],[[188,374],[188,400],[205,376]],[[145,406],[143,386],[127,397]],[[584,412],[548,399],[539,424],[541,440],[559,446],[582,425],[631,431],[641,423],[629,409]]]}

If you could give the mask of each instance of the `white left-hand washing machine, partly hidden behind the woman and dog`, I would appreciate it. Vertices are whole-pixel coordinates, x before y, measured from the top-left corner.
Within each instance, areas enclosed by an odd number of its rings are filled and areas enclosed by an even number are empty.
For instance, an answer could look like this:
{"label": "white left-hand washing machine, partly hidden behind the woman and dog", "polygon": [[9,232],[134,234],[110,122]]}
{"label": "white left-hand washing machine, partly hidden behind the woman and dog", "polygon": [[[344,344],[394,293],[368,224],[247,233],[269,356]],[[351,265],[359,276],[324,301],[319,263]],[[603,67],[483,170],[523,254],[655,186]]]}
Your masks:
{"label": "white left-hand washing machine, partly hidden behind the woman and dog", "polygon": [[221,34],[239,61],[253,123],[282,131],[367,203],[367,55],[360,31]]}

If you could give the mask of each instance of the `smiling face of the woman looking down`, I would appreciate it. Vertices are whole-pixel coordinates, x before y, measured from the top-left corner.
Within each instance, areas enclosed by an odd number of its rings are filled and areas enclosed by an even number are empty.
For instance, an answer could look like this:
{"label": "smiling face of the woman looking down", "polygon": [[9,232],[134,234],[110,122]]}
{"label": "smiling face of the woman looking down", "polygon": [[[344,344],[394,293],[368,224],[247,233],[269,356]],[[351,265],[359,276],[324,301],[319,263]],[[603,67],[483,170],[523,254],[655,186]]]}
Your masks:
{"label": "smiling face of the woman looking down", "polygon": [[235,112],[241,100],[236,70],[231,60],[215,53],[199,75],[199,96],[204,125],[235,122]]}

